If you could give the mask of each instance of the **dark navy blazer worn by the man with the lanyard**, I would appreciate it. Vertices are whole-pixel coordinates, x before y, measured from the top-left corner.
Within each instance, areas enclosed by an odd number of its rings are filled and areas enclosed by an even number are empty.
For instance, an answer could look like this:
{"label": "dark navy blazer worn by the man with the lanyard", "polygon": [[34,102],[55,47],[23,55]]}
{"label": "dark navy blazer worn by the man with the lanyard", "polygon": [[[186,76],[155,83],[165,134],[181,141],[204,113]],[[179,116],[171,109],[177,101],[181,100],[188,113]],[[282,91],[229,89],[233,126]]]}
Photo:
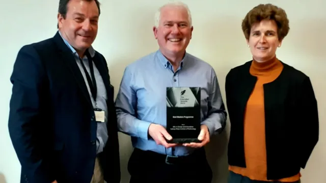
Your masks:
{"label": "dark navy blazer worn by the man with the lanyard", "polygon": [[[108,141],[100,155],[107,182],[120,182],[114,88],[105,58],[93,62],[107,92]],[[20,182],[91,181],[96,157],[95,114],[71,50],[55,37],[23,46],[11,76],[9,133],[21,164]]]}

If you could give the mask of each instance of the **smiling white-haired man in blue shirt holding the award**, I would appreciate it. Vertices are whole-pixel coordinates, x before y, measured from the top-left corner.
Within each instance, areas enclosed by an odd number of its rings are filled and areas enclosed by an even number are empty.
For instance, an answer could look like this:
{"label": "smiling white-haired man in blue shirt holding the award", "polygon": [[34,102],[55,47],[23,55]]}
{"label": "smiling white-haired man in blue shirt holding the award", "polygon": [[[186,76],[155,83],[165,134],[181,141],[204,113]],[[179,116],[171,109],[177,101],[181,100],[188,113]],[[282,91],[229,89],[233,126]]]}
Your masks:
{"label": "smiling white-haired man in blue shirt holding the award", "polygon": [[[130,182],[211,182],[204,146],[224,130],[227,114],[214,69],[185,51],[192,31],[186,5],[161,7],[153,27],[159,50],[124,71],[116,108],[119,131],[131,136],[134,147]],[[201,143],[166,141],[173,138],[166,130],[166,87],[173,86],[201,87]]]}

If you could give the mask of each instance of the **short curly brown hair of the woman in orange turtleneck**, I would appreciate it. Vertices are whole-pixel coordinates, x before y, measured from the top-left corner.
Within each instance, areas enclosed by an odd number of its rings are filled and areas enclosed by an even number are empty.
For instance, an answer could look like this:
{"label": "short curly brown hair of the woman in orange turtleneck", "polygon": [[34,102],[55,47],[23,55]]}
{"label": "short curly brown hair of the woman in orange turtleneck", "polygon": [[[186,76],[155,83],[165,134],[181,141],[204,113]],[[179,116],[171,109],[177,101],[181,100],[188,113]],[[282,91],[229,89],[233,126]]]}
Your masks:
{"label": "short curly brown hair of the woman in orange turtleneck", "polygon": [[262,20],[274,20],[278,26],[278,38],[283,40],[288,34],[289,20],[285,11],[272,4],[260,4],[250,10],[242,20],[242,32],[244,37],[249,40],[251,27]]}

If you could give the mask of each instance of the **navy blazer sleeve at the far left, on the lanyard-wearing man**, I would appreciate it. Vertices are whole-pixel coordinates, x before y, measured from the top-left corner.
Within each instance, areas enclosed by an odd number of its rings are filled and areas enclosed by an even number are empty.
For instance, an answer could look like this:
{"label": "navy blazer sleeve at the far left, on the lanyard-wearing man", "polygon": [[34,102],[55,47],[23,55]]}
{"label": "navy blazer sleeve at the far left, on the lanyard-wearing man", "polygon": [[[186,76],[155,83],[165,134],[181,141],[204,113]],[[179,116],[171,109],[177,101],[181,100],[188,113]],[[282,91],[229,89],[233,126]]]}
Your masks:
{"label": "navy blazer sleeve at the far left, on the lanyard-wearing man", "polygon": [[[29,182],[52,182],[51,164],[46,162],[47,145],[40,143],[44,129],[39,125],[46,73],[33,46],[23,46],[17,55],[11,75],[12,95],[9,112],[9,134],[21,164],[22,175]],[[42,137],[46,139],[46,136]],[[43,141],[43,140],[42,140]],[[44,141],[43,141],[44,142]]]}

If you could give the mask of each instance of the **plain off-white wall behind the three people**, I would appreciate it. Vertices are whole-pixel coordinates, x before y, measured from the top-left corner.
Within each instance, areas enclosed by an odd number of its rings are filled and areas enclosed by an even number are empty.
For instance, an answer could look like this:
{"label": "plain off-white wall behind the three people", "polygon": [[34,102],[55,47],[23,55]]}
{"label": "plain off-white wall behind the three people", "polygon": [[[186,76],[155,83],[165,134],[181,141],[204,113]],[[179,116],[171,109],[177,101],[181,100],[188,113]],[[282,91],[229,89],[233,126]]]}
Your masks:
{"label": "plain off-white wall behind the three people", "polygon": [[[24,44],[52,37],[57,31],[59,0],[0,0],[0,183],[19,182],[20,164],[8,134],[9,81],[14,60]],[[155,51],[153,37],[154,12],[167,0],[102,0],[98,37],[94,47],[108,63],[115,95],[123,70],[133,60]],[[251,59],[250,50],[241,32],[241,20],[259,3],[273,3],[284,8],[290,20],[289,35],[283,41],[277,56],[285,63],[311,77],[318,100],[320,140],[305,170],[303,183],[326,182],[326,1],[264,1],[264,0],[188,0],[192,11],[194,32],[187,51],[211,64],[218,74],[225,101],[224,83],[227,72]],[[294,2],[297,3],[294,5]],[[307,124],[309,125],[309,124]],[[213,182],[226,182],[226,147],[229,125],[224,134],[211,140],[207,146],[212,166]],[[304,134],[303,134],[304,135]],[[120,134],[122,181],[129,175],[126,164],[132,148],[130,138]]]}

